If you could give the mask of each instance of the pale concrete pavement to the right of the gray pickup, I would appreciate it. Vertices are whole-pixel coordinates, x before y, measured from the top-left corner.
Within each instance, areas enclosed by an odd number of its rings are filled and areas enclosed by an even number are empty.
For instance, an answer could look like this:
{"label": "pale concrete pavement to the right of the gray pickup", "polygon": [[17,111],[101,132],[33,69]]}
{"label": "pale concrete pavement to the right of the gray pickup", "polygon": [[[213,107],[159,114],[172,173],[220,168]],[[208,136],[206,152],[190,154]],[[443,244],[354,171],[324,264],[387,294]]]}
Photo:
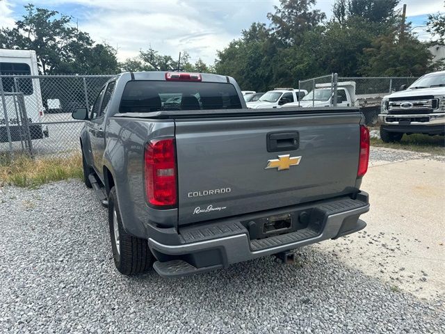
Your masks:
{"label": "pale concrete pavement to the right of the gray pickup", "polygon": [[405,159],[373,159],[362,189],[371,209],[365,230],[316,247],[422,299],[445,295],[445,162],[373,148]]}

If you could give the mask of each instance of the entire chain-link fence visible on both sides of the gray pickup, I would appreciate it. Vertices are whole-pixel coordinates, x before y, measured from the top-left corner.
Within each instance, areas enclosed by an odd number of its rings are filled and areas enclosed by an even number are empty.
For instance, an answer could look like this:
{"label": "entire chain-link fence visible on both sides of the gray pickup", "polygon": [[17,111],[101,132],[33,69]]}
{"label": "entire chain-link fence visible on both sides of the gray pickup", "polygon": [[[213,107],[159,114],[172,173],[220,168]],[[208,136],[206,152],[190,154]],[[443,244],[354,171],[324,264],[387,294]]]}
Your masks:
{"label": "entire chain-link fence visible on both sides of the gray pickup", "polygon": [[[71,118],[90,109],[111,76],[0,76],[0,154],[67,157],[79,150],[83,122]],[[367,125],[378,120],[380,101],[416,78],[326,75],[299,81],[308,94],[300,106],[359,106]],[[337,96],[336,99],[333,99]]]}

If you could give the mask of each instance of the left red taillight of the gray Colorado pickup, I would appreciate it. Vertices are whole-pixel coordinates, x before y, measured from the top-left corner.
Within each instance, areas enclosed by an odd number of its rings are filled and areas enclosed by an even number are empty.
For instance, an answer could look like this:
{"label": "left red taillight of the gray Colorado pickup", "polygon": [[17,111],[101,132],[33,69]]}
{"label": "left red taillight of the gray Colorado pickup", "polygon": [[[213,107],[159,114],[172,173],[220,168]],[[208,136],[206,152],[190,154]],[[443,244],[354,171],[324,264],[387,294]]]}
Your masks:
{"label": "left red taillight of the gray Colorado pickup", "polygon": [[156,139],[145,146],[145,193],[149,204],[175,206],[176,158],[175,140]]}

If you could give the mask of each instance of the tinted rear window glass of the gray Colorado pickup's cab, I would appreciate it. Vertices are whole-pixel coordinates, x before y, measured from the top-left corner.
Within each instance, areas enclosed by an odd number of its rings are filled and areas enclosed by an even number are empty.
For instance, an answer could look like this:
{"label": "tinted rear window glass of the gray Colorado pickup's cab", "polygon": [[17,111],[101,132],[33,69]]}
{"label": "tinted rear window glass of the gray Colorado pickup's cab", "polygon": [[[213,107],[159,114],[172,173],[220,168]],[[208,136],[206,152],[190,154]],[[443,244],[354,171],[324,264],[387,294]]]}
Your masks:
{"label": "tinted rear window glass of the gray Colorado pickup's cab", "polygon": [[120,102],[121,113],[240,108],[235,87],[214,82],[129,81]]}

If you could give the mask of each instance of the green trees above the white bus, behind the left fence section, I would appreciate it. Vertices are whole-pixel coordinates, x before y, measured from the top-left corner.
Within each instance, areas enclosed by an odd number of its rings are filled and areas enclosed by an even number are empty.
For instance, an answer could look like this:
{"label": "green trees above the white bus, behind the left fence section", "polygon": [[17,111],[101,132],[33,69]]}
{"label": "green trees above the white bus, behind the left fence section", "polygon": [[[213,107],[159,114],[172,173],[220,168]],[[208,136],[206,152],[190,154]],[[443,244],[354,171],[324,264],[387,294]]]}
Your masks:
{"label": "green trees above the white bus, behind the left fence section", "polygon": [[116,72],[116,51],[95,44],[88,33],[56,10],[25,6],[26,14],[12,29],[0,29],[3,49],[35,50],[42,74],[109,74]]}

